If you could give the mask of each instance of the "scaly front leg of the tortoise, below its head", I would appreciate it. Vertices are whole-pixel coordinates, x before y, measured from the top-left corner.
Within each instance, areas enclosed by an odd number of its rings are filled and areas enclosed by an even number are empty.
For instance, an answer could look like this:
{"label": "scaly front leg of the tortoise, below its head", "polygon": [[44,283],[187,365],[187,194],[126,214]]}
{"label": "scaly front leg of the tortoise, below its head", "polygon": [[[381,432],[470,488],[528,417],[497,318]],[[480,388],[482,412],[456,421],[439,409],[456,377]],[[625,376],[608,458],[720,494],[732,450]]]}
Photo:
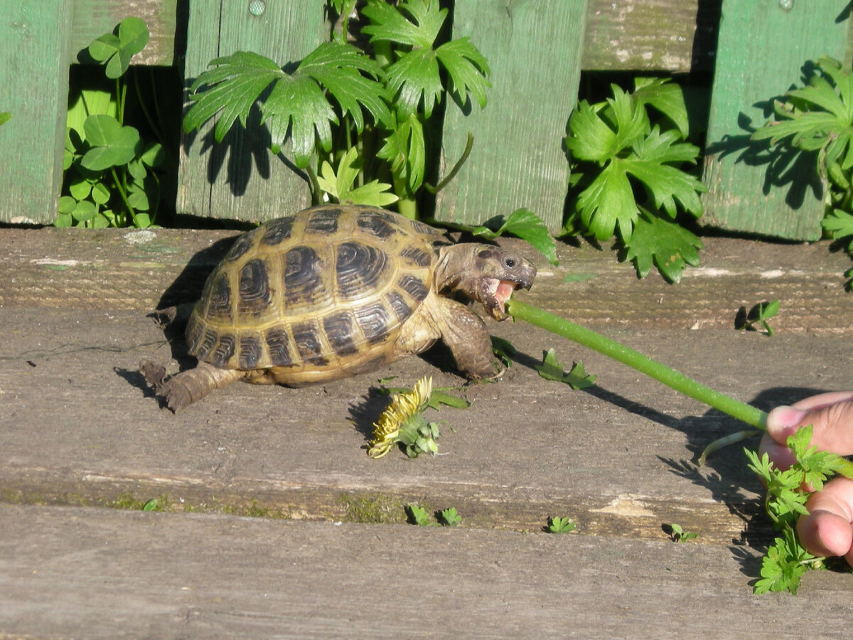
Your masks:
{"label": "scaly front leg of the tortoise, below its head", "polygon": [[466,305],[456,300],[439,297],[441,307],[438,317],[444,322],[441,339],[450,347],[456,367],[471,378],[494,379],[503,374],[503,367],[496,367],[491,353],[491,338],[485,323]]}

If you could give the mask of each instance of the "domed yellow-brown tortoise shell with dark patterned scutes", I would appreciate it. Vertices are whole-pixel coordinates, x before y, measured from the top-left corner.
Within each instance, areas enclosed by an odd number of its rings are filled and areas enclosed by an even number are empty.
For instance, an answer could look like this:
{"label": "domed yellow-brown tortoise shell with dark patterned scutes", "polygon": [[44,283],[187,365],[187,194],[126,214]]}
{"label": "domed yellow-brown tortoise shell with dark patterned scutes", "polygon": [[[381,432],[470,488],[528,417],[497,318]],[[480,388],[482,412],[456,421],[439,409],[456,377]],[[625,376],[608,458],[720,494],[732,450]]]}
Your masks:
{"label": "domed yellow-brown tortoise shell with dark patterned scutes", "polygon": [[432,288],[427,224],[374,207],[312,207],[238,237],[207,278],[189,353],[250,381],[333,380],[394,358]]}

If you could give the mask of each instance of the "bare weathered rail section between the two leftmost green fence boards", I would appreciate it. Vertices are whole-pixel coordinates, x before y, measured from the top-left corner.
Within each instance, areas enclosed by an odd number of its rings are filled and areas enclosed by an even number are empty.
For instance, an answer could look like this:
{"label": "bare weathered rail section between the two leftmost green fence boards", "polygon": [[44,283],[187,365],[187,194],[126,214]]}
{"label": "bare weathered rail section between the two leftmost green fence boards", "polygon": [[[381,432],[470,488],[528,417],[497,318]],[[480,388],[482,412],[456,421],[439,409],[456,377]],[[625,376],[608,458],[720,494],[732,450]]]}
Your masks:
{"label": "bare weathered rail section between the two leftmost green fence boards", "polygon": [[[133,64],[170,67],[180,61],[175,57],[179,0],[74,0],[71,17],[71,52],[74,60],[81,49],[131,16],[142,18],[151,39],[145,49],[133,57]],[[187,0],[183,0],[186,5]],[[183,8],[182,8],[183,10]]]}

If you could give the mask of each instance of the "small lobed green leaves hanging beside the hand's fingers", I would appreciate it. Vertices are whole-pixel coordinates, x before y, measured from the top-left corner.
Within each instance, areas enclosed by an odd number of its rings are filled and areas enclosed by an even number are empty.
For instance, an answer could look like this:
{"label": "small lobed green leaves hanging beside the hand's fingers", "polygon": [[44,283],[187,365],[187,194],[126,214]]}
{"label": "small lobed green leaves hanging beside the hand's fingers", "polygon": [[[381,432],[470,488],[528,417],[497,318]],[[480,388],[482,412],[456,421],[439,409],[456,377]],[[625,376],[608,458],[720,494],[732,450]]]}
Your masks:
{"label": "small lobed green leaves hanging beside the hand's fingers", "polygon": [[805,507],[809,489],[821,491],[824,483],[835,474],[853,477],[853,463],[838,454],[817,451],[816,446],[810,445],[811,436],[809,425],[787,439],[796,463],[784,471],[775,468],[767,453],[758,457],[757,452],[744,450],[750,461],[749,468],[767,486],[764,509],[780,532],[763,558],[761,579],[754,587],[756,593],[790,591],[795,594],[804,573],[824,567],[824,558],[812,556],[799,543],[797,519],[809,513]]}

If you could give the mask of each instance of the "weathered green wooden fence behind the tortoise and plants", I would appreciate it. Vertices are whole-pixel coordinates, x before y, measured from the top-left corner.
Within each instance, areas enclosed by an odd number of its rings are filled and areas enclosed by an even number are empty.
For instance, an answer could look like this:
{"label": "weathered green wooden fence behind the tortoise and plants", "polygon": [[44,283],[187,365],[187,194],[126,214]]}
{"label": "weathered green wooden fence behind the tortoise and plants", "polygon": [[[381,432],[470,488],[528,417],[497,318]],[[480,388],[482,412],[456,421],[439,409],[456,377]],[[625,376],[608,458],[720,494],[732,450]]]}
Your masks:
{"label": "weathered green wooden fence behind the tortoise and plants", "polygon": [[[328,32],[323,0],[44,0],[0,5],[0,220],[50,223],[61,188],[68,68],[78,52],[128,15],[152,34],[135,64],[176,66],[191,81],[217,55],[253,50],[298,61]],[[709,113],[705,224],[814,240],[820,193],[767,189],[767,167],[742,157],[757,102],[798,80],[804,61],[849,59],[845,0],[456,0],[455,36],[487,57],[493,85],[485,110],[448,110],[442,154],[452,163],[472,131],[475,146],[440,193],[437,217],[481,222],[527,207],[560,227],[568,165],[562,151],[580,73],[713,72],[693,107]],[[185,52],[184,52],[185,43]],[[709,74],[711,77],[711,74]],[[704,124],[704,123],[703,123]],[[304,180],[232,131],[183,140],[177,210],[259,221],[308,202]],[[739,146],[740,145],[740,146]],[[810,177],[809,177],[810,178]]]}

